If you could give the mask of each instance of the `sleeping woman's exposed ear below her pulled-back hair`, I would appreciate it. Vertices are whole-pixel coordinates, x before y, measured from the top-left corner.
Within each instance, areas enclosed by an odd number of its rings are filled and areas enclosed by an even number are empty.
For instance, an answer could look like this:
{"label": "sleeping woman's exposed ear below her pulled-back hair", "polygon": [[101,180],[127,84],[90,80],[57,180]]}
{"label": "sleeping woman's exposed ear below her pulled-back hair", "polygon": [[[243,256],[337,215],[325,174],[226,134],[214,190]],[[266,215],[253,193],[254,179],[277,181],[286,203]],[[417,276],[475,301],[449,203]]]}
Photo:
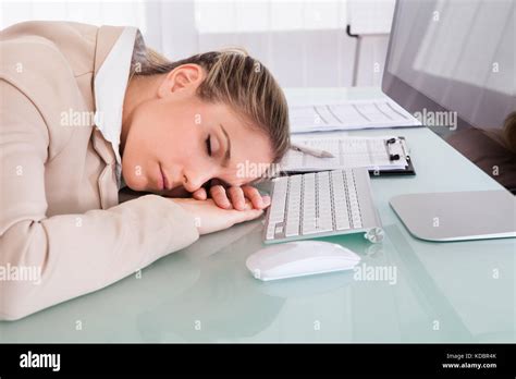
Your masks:
{"label": "sleeping woman's exposed ear below her pulled-back hair", "polygon": [[177,91],[194,93],[204,78],[202,68],[198,64],[182,64],[169,72],[158,88],[158,97],[167,97]]}

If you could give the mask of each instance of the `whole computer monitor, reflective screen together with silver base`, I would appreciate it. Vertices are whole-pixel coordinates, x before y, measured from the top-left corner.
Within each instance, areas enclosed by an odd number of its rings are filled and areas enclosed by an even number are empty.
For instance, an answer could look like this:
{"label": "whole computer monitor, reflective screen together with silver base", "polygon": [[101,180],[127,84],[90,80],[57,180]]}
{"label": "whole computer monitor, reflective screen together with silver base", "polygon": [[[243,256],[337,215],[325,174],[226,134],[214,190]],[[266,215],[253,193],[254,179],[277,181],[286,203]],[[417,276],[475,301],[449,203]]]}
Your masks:
{"label": "whole computer monitor, reflective screen together with silver base", "polygon": [[[515,12],[514,0],[397,0],[382,81],[389,97],[512,192]],[[516,197],[505,190],[405,194],[390,204],[423,240],[516,236]]]}

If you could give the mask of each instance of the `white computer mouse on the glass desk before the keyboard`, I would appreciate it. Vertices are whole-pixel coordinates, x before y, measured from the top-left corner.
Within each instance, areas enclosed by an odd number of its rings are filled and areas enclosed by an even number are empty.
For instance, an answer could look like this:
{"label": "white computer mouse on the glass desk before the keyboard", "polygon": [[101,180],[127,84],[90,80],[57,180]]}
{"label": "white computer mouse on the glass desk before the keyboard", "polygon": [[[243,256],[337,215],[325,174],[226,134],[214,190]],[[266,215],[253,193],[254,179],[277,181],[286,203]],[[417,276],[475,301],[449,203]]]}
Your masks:
{"label": "white computer mouse on the glass desk before the keyboard", "polygon": [[247,258],[255,278],[277,280],[351,270],[360,261],[352,250],[329,242],[295,241],[265,247]]}

